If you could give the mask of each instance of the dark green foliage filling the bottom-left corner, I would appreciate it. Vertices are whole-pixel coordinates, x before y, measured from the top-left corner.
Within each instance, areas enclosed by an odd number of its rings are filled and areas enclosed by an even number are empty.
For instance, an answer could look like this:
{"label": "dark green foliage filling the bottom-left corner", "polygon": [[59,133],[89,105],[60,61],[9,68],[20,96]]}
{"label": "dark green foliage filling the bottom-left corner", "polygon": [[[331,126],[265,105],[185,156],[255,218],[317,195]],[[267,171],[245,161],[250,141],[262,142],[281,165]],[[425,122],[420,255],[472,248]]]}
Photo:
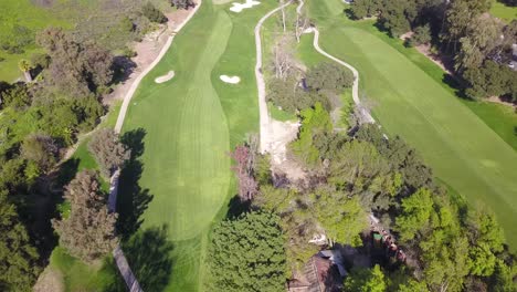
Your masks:
{"label": "dark green foliage filling the bottom-left corner", "polygon": [[38,258],[17,208],[0,190],[0,290],[32,291],[40,272]]}

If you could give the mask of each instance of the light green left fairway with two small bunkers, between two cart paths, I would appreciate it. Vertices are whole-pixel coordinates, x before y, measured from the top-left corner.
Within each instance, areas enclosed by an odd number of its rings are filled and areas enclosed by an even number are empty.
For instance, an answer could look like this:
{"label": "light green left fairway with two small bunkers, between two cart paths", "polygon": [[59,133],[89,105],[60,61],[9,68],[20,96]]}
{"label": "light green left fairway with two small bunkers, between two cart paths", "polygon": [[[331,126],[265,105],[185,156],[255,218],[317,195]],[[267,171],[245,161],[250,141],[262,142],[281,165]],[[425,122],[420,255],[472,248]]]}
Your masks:
{"label": "light green left fairway with two small bunkers, between two cart paths", "polygon": [[[258,131],[253,28],[274,4],[231,13],[230,4],[203,1],[131,101],[124,132],[146,131],[138,182],[152,196],[140,231],[165,225],[175,246],[172,273],[159,290],[197,291],[201,284],[211,226],[235,194],[228,153]],[[170,70],[173,80],[154,82]],[[241,83],[223,83],[221,74]]]}

